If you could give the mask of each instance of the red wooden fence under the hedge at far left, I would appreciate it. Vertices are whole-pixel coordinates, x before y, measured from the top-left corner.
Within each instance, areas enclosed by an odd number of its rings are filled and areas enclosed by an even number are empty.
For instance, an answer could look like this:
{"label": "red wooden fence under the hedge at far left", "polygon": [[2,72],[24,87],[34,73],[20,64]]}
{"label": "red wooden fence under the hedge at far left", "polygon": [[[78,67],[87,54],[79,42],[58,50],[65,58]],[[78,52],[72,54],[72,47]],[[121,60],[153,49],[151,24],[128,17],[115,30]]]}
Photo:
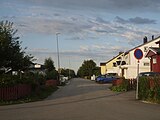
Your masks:
{"label": "red wooden fence under the hedge at far left", "polygon": [[19,84],[0,88],[0,100],[15,100],[31,93],[31,85]]}

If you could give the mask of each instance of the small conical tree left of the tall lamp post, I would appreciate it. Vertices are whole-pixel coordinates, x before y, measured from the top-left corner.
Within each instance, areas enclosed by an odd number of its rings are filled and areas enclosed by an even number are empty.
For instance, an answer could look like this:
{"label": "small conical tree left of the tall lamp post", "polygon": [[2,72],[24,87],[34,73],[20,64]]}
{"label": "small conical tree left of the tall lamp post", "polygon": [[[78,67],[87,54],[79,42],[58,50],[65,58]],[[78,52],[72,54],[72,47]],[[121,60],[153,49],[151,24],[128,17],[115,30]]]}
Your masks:
{"label": "small conical tree left of the tall lamp post", "polygon": [[54,67],[54,62],[51,58],[45,59],[44,66],[46,68],[46,79],[57,79],[58,72]]}

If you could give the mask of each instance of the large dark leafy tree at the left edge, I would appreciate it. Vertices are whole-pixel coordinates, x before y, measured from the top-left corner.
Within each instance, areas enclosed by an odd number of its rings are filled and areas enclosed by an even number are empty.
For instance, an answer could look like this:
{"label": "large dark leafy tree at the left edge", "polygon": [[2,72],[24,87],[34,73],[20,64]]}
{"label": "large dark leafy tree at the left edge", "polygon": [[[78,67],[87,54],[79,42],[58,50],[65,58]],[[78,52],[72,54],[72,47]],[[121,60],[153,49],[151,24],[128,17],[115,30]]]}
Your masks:
{"label": "large dark leafy tree at the left edge", "polygon": [[24,70],[30,66],[33,56],[25,55],[21,42],[16,37],[17,29],[13,29],[13,22],[0,22],[0,68]]}

